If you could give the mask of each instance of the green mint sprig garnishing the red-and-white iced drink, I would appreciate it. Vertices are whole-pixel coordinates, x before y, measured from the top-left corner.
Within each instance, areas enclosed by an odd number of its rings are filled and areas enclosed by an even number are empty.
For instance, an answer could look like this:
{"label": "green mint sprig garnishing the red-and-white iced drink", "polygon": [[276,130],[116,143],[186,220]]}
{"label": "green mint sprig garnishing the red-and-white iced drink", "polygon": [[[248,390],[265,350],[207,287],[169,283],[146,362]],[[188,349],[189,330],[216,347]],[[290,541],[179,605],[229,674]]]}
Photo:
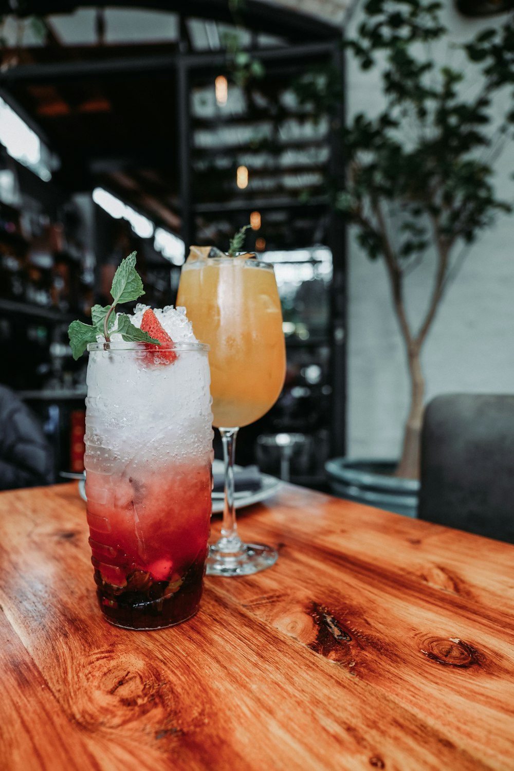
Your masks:
{"label": "green mint sprig garnishing the red-and-white iced drink", "polygon": [[110,342],[110,335],[117,332],[125,342],[153,342],[160,345],[159,340],[149,336],[139,327],[135,327],[126,313],[117,318],[113,315],[119,302],[137,300],[144,295],[143,281],[136,272],[136,252],[133,251],[119,264],[111,287],[111,305],[93,305],[91,308],[92,324],[72,322],[68,328],[69,345],[73,359],[77,360],[86,350],[88,343],[96,342],[97,335],[103,335]]}

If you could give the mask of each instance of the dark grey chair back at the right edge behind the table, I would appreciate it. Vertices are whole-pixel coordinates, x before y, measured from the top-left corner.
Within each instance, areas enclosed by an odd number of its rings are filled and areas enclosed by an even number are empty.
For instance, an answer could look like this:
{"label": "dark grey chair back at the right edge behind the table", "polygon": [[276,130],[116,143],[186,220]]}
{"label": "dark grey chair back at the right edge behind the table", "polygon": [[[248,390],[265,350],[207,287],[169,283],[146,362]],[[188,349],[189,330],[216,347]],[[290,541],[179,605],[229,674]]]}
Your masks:
{"label": "dark grey chair back at the right edge behind the table", "polygon": [[418,517],[514,544],[514,396],[429,402]]}

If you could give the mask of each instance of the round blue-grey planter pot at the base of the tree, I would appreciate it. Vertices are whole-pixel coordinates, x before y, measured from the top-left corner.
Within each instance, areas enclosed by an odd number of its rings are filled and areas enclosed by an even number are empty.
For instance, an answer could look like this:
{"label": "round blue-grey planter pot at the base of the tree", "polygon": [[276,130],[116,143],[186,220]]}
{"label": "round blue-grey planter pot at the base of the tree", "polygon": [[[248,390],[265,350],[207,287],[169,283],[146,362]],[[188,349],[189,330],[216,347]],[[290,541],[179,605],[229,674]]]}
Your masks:
{"label": "round blue-grey planter pot at the base of the tree", "polygon": [[325,470],[334,495],[416,517],[419,481],[392,476],[396,465],[393,460],[332,458]]}

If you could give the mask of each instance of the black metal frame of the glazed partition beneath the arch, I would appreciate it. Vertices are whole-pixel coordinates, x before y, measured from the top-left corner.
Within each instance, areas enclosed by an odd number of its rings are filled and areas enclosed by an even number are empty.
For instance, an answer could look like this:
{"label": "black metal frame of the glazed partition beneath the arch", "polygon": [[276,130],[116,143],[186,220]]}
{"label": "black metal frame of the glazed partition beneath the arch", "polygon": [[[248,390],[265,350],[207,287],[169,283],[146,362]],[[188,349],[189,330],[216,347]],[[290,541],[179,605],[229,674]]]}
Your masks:
{"label": "black metal frame of the glazed partition beneath the arch", "polygon": [[[41,3],[28,0],[24,4],[24,13],[37,12],[41,14]],[[96,2],[55,2],[45,3],[45,14],[52,12],[69,12],[79,5],[94,5]],[[136,0],[112,0],[109,5],[142,6]],[[146,8],[165,8],[170,10],[169,2],[149,2]],[[186,248],[195,241],[195,214],[207,213],[216,210],[244,211],[255,209],[270,209],[272,207],[312,209],[317,207],[328,209],[328,204],[323,200],[312,200],[308,203],[300,203],[296,200],[248,200],[241,199],[233,204],[193,203],[192,185],[192,148],[191,148],[191,111],[190,111],[190,75],[191,72],[212,72],[213,69],[227,69],[230,62],[226,52],[190,52],[186,40],[186,29],[183,22],[183,14],[204,16],[209,19],[217,18],[220,21],[232,21],[227,2],[224,0],[179,0],[173,6],[174,12],[179,12],[180,41],[176,52],[170,55],[137,56],[135,59],[120,57],[108,59],[102,62],[62,62],[59,64],[46,64],[37,66],[18,66],[0,73],[0,93],[4,91],[6,101],[15,105],[16,86],[25,82],[62,81],[67,79],[86,78],[91,76],[116,77],[129,73],[151,72],[153,74],[166,74],[175,72],[177,83],[177,115],[179,116],[179,147],[177,163],[180,170],[180,214],[182,217],[182,237]],[[320,56],[330,58],[341,73],[344,73],[344,57],[341,53],[339,41],[341,30],[331,25],[317,22],[311,17],[302,16],[296,12],[291,13],[284,8],[268,5],[266,2],[246,0],[244,12],[241,13],[246,25],[255,25],[263,32],[273,31],[280,35],[282,27],[287,25],[287,35],[291,39],[291,32],[302,42],[283,49],[256,49],[254,55],[264,62],[267,67],[273,64],[290,66],[294,64],[305,65],[307,59],[316,59]],[[272,27],[273,29],[268,29]],[[304,39],[316,38],[321,42],[305,43]],[[344,122],[344,105],[341,104],[339,114],[331,127],[331,173],[334,177],[343,179],[344,158],[339,137],[339,127]],[[34,121],[31,120],[32,126]],[[41,130],[38,132],[41,136]],[[42,137],[43,138],[43,137]],[[343,455],[345,451],[346,434],[346,287],[347,287],[347,249],[346,229],[341,217],[330,210],[328,227],[328,247],[331,249],[333,259],[334,278],[331,287],[331,387],[332,387],[332,421],[331,421],[331,454]]]}

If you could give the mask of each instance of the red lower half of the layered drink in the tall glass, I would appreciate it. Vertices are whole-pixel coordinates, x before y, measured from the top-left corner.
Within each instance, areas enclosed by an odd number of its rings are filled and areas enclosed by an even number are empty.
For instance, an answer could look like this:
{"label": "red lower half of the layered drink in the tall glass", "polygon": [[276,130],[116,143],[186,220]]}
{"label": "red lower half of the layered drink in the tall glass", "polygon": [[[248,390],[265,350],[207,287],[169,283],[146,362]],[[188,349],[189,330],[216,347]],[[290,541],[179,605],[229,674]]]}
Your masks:
{"label": "red lower half of the layered drink in the tall glass", "polygon": [[89,544],[102,612],[113,624],[160,628],[198,609],[211,512],[210,457],[118,473],[87,463]]}

